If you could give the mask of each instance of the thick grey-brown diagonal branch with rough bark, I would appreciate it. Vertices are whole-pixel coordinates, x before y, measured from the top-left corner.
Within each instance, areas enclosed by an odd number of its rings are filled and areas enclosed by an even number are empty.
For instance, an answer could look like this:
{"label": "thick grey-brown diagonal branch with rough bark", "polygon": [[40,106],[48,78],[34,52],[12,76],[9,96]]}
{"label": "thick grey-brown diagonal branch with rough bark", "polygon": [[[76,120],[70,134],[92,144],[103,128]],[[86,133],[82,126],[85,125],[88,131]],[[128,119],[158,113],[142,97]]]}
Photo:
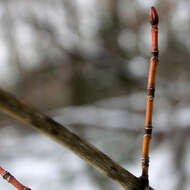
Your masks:
{"label": "thick grey-brown diagonal branch with rough bark", "polygon": [[104,153],[70,132],[61,124],[37,110],[21,103],[13,95],[0,89],[0,110],[29,124],[80,156],[92,167],[117,181],[126,190],[142,190],[142,181],[122,168]]}

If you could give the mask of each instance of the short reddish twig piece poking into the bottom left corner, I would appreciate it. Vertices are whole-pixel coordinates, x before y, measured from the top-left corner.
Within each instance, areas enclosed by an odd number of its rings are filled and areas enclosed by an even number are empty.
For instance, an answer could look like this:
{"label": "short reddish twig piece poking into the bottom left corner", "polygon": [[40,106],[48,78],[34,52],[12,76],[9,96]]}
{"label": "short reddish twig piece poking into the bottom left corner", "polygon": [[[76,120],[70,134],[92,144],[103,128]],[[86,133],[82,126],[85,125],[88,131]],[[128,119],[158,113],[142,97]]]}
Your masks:
{"label": "short reddish twig piece poking into the bottom left corner", "polygon": [[22,185],[14,176],[12,176],[8,171],[4,170],[2,167],[0,167],[0,175],[18,190],[31,190],[30,188]]}

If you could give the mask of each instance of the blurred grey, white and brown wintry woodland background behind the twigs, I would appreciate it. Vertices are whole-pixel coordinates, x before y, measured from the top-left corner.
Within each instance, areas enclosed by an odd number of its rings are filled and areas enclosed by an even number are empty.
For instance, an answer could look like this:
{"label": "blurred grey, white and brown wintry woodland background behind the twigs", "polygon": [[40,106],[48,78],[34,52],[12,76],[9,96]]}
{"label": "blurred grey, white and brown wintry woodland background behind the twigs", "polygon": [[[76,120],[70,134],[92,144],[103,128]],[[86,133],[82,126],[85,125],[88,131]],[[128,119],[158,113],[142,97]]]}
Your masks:
{"label": "blurred grey, white and brown wintry woodland background behind the twigs", "polygon": [[[141,175],[149,7],[160,15],[150,184],[190,187],[190,1],[0,1],[0,87]],[[32,189],[121,190],[64,147],[0,115],[0,165]],[[3,179],[0,188],[11,190]]]}

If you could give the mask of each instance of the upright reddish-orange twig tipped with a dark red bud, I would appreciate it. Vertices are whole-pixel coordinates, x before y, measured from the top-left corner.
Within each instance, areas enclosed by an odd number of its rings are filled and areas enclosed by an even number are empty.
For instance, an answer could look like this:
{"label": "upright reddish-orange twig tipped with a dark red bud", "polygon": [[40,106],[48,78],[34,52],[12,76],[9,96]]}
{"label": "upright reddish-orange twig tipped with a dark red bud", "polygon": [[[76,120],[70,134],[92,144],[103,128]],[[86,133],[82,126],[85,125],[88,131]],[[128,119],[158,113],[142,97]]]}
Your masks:
{"label": "upright reddish-orange twig tipped with a dark red bud", "polygon": [[155,91],[155,74],[158,64],[158,22],[159,17],[154,7],[150,8],[150,24],[152,26],[152,57],[150,60],[147,99],[146,99],[146,117],[142,145],[142,179],[148,187],[148,169],[149,169],[149,145],[152,136],[152,111]]}

